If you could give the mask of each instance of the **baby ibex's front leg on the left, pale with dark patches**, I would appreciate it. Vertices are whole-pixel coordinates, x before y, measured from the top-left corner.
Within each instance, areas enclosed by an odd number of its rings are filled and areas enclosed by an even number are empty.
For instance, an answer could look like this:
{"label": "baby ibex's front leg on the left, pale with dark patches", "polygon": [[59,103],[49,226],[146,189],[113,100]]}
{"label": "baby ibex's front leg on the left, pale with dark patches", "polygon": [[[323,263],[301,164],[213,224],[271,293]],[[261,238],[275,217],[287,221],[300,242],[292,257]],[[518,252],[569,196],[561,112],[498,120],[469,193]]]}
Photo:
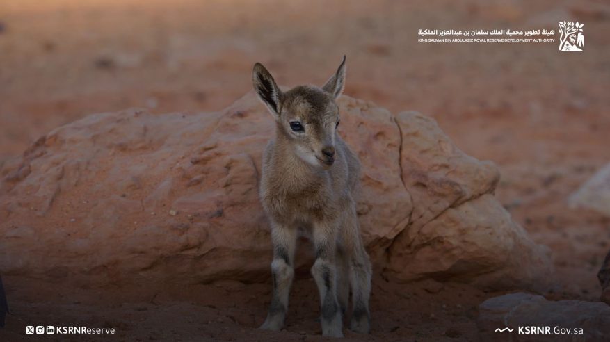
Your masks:
{"label": "baby ibex's front leg on the left, pale with dark patches", "polygon": [[296,245],[296,229],[285,225],[272,224],[271,238],[273,241],[273,295],[265,323],[261,329],[278,331],[284,326],[284,318],[288,311],[288,296],[294,278],[294,247]]}

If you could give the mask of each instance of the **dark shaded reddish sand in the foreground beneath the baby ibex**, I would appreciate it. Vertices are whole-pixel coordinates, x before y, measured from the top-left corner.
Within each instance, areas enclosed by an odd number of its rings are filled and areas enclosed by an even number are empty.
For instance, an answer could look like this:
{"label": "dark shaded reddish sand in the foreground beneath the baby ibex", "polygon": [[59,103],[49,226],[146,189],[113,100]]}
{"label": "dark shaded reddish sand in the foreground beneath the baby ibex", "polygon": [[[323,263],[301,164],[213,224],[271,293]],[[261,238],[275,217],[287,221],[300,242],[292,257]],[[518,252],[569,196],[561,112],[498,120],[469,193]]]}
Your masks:
{"label": "dark shaded reddish sand in the foreground beneath the baby ibex", "polygon": [[[86,336],[85,341],[326,340],[320,336],[315,283],[307,270],[298,272],[296,279],[286,327],[279,333],[255,329],[266,316],[271,282],[223,281],[150,293],[147,289],[104,291],[98,298],[90,291],[62,293],[58,288],[39,288],[37,295],[30,292],[24,300],[14,298],[14,316],[8,317],[8,332],[0,332],[0,336],[4,334],[8,341],[31,341],[31,336],[19,336],[26,325],[85,325],[117,329],[115,335]],[[371,334],[348,329],[344,333],[353,341],[472,341],[477,336],[476,307],[489,295],[495,294],[464,284],[396,284],[377,277],[371,295]],[[82,335],[69,337],[83,341]]]}

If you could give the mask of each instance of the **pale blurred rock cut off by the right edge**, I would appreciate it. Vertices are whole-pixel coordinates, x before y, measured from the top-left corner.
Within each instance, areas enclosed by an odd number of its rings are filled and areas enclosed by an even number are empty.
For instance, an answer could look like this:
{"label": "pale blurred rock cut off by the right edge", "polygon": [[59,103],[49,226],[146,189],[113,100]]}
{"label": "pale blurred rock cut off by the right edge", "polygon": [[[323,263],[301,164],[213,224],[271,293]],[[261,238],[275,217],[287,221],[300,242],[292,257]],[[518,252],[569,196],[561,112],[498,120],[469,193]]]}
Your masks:
{"label": "pale blurred rock cut off by the right edge", "polygon": [[610,163],[597,171],[568,199],[574,208],[586,208],[610,216]]}

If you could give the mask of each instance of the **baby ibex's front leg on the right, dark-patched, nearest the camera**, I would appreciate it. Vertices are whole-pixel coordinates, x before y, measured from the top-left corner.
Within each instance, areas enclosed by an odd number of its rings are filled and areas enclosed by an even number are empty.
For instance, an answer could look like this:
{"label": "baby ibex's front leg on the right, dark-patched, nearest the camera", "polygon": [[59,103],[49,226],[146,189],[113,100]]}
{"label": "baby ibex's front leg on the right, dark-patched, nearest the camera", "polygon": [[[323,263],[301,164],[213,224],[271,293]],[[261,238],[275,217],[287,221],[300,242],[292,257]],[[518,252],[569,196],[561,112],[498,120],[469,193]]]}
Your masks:
{"label": "baby ibex's front leg on the right, dark-patched, nearest the camera", "polygon": [[341,310],[337,302],[336,234],[337,229],[328,222],[314,224],[316,262],[312,275],[320,292],[322,335],[343,337]]}

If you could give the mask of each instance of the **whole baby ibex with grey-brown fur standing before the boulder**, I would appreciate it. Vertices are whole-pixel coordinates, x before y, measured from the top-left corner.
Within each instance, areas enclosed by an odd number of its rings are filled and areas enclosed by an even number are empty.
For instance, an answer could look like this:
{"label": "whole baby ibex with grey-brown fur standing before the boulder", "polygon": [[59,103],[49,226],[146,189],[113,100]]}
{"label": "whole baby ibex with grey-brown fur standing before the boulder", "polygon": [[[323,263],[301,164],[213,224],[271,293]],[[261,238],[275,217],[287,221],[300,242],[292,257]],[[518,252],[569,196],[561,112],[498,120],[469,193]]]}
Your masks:
{"label": "whole baby ibex with grey-brown fur standing before the boulder", "polygon": [[356,204],[360,162],[337,134],[345,57],[322,87],[282,92],[271,74],[255,64],[252,82],[275,118],[275,139],[264,152],[260,197],[271,222],[273,295],[261,329],[280,330],[294,277],[299,231],[312,236],[323,336],[342,337],[342,316],[352,293],[351,329],[369,332],[371,263],[364,250]]}

